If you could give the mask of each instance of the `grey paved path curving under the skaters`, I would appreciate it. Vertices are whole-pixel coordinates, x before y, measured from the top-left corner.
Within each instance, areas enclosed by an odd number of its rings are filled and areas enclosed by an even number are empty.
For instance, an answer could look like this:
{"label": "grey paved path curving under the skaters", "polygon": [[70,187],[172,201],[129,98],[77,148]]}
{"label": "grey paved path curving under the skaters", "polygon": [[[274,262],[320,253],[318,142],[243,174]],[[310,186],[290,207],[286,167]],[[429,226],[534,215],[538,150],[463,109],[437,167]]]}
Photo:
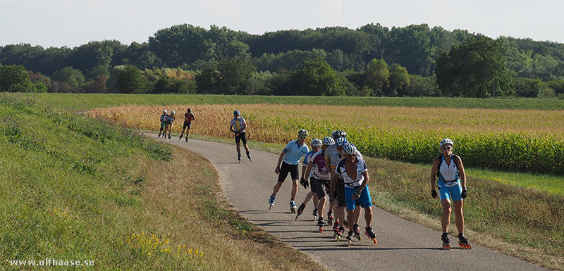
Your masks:
{"label": "grey paved path curving under the skaters", "polygon": [[[149,137],[157,136],[149,134]],[[439,248],[441,232],[375,207],[372,207],[372,225],[378,246],[374,246],[363,234],[362,241],[355,239],[348,247],[346,240],[336,242],[331,230],[318,232],[312,221],[311,202],[304,214],[294,220],[295,215],[289,209],[289,175],[276,195],[276,204],[269,210],[268,199],[277,179],[274,168],[278,155],[251,150],[252,163],[246,158],[237,163],[235,146],[231,144],[195,139],[186,143],[184,139],[178,141],[174,137],[158,140],[195,151],[210,160],[219,172],[229,201],[247,220],[331,270],[546,270],[477,244],[472,244],[470,251],[458,247],[443,251]],[[300,188],[296,198],[298,205],[307,193],[306,189]],[[364,229],[364,217],[360,219],[360,227]],[[458,239],[450,237],[450,244],[458,246]]]}

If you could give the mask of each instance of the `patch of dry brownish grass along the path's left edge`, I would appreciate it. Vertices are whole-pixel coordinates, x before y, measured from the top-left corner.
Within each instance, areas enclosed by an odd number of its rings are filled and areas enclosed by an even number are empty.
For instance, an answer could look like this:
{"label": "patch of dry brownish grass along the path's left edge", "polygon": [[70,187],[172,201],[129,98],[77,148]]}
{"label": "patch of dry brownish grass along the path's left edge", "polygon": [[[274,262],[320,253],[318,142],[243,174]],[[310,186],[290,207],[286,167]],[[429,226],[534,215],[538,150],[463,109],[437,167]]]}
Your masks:
{"label": "patch of dry brownish grass along the path's left edge", "polygon": [[147,172],[142,198],[154,232],[203,250],[207,270],[325,270],[229,210],[209,161],[176,147],[173,156]]}

